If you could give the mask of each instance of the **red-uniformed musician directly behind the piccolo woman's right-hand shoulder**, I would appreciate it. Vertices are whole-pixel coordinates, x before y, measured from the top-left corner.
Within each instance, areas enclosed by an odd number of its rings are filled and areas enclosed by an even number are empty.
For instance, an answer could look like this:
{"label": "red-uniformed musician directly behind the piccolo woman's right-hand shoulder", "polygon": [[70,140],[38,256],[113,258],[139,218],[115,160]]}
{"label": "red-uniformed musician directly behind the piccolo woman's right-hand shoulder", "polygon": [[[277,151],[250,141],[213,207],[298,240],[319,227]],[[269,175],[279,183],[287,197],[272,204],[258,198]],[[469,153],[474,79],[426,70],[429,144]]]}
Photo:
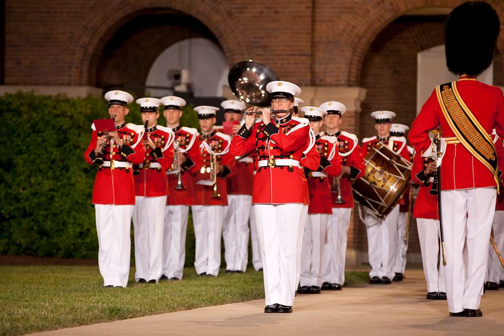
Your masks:
{"label": "red-uniformed musician directly behind the piccolo woman's right-hand shoulder", "polygon": [[323,136],[320,128],[327,112],[314,106],[301,108],[309,120],[311,130],[317,135],[314,149],[319,152],[317,169],[305,169],[309,188],[308,222],[304,229],[301,253],[301,276],[298,293],[318,294],[321,292],[323,275],[324,243],[327,240],[327,223],[332,214],[331,186],[329,174],[339,175],[341,158],[337,139]]}

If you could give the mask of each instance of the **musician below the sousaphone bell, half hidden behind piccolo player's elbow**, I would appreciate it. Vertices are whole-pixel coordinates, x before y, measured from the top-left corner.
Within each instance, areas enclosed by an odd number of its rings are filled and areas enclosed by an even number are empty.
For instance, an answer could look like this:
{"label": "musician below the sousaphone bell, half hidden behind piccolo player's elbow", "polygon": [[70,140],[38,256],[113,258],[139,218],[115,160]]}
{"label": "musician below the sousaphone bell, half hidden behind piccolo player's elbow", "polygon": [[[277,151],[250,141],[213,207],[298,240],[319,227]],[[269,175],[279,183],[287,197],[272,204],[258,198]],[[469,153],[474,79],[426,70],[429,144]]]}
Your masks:
{"label": "musician below the sousaphone bell, half hidden behind piccolo player's elbow", "polygon": [[[225,100],[221,107],[224,121],[235,122],[229,134],[235,135],[241,127],[239,121],[247,106],[239,100]],[[252,153],[235,159],[233,175],[226,179],[228,206],[224,208],[222,239],[226,272],[243,273],[248,262],[248,219],[252,209],[254,160]]]}

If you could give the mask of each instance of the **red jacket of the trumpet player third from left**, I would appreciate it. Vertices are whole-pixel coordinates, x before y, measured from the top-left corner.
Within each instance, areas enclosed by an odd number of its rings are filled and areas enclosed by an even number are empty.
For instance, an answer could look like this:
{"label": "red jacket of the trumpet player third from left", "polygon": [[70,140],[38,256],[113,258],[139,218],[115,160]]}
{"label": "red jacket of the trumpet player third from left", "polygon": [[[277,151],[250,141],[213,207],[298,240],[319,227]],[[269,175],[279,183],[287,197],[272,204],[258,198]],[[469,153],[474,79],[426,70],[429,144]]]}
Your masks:
{"label": "red jacket of the trumpet player third from left", "polygon": [[[203,158],[201,156],[199,133],[196,128],[177,126],[173,128],[175,141],[178,142],[181,155],[185,155],[185,162],[180,165],[180,181],[185,189],[175,189],[177,174],[170,173],[172,167],[166,172],[168,175],[168,206],[194,205],[194,177],[200,173]],[[176,153],[174,153],[176,155]]]}

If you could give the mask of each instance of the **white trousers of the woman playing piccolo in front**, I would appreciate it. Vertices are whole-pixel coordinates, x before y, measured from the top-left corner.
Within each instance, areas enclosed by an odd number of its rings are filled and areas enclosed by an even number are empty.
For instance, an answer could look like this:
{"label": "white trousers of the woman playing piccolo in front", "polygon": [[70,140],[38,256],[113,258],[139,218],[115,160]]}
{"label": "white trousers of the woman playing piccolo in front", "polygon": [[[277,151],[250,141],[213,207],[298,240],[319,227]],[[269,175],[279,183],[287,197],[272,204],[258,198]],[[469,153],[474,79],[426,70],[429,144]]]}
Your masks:
{"label": "white trousers of the woman playing piccolo in front", "polygon": [[256,204],[266,305],[292,306],[297,290],[302,204]]}

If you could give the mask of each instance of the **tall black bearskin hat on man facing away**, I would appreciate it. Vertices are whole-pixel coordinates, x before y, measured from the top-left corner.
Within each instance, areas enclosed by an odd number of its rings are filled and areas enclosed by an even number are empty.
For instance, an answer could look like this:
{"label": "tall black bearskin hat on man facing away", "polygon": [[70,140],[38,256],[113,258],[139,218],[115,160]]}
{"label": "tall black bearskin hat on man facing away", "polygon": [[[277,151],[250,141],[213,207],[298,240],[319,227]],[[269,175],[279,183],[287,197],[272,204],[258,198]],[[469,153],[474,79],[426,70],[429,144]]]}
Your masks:
{"label": "tall black bearskin hat on man facing away", "polygon": [[471,1],[457,6],[445,25],[448,70],[456,75],[480,75],[492,62],[499,31],[499,17],[488,3]]}

